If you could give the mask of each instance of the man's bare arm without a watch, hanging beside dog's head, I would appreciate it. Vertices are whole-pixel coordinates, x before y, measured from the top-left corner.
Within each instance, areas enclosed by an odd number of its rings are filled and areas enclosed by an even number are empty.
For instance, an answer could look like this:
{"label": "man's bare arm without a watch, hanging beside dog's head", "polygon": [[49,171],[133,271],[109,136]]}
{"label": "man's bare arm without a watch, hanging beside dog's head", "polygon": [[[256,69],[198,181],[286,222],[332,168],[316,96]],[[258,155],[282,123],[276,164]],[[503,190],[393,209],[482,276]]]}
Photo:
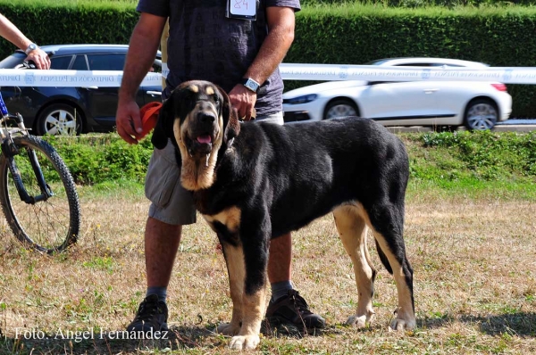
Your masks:
{"label": "man's bare arm without a watch, hanging beside dog's head", "polygon": [[141,138],[141,119],[136,94],[141,81],[155,62],[166,20],[165,17],[142,12],[130,37],[115,115],[117,133],[130,144],[138,144],[138,139]]}

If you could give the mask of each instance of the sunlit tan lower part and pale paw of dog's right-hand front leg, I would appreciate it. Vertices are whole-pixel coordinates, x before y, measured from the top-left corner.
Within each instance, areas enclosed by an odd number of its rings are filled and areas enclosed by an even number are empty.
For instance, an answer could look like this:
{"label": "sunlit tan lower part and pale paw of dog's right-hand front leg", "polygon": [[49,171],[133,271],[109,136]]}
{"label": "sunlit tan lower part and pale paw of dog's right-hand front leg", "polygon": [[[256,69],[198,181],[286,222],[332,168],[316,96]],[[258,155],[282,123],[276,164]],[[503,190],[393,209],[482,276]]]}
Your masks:
{"label": "sunlit tan lower part and pale paw of dog's right-hand front leg", "polygon": [[230,340],[231,349],[255,349],[260,343],[261,323],[264,318],[266,285],[253,294],[242,295],[243,318],[240,333]]}

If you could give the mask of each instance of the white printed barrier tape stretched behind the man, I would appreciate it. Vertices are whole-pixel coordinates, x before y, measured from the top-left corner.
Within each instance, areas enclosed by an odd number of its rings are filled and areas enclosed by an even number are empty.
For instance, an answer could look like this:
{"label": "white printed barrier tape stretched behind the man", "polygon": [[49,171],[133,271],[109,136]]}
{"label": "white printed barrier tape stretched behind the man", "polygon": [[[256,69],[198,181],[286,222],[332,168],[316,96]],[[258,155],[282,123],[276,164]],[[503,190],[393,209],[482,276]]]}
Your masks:
{"label": "white printed barrier tape stretched behind the man", "polygon": [[[164,78],[168,73],[163,71]],[[285,80],[367,81],[498,81],[505,84],[536,84],[536,68],[491,67],[482,69],[380,67],[374,65],[291,64],[280,65]],[[0,87],[120,87],[121,70],[13,70],[0,69]],[[161,86],[162,74],[149,73],[141,86]]]}

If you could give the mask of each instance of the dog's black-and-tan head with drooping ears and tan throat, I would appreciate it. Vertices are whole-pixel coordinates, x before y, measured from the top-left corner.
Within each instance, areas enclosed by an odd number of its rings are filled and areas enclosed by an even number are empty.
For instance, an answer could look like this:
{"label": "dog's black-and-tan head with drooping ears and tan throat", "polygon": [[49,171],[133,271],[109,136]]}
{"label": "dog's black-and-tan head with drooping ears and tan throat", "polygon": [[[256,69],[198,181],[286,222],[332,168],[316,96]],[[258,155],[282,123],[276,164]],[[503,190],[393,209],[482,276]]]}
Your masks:
{"label": "dog's black-and-tan head with drooping ears and tan throat", "polygon": [[182,185],[197,190],[212,185],[218,152],[230,145],[239,130],[237,111],[221,87],[208,81],[187,81],[163,103],[152,143],[163,149],[168,138],[172,139],[180,150]]}

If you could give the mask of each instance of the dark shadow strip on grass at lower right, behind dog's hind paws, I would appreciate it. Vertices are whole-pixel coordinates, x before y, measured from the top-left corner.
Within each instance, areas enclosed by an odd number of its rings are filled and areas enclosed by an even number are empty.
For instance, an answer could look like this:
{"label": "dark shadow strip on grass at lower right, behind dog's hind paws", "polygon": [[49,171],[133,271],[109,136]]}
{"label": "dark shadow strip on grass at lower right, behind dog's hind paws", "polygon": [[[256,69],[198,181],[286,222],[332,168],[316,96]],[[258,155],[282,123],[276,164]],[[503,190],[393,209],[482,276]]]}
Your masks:
{"label": "dark shadow strip on grass at lower right, behind dog's hind paws", "polygon": [[536,336],[536,313],[512,312],[490,316],[462,315],[441,318],[424,318],[417,321],[420,327],[437,328],[452,322],[464,322],[477,325],[483,334],[512,334],[521,337]]}

